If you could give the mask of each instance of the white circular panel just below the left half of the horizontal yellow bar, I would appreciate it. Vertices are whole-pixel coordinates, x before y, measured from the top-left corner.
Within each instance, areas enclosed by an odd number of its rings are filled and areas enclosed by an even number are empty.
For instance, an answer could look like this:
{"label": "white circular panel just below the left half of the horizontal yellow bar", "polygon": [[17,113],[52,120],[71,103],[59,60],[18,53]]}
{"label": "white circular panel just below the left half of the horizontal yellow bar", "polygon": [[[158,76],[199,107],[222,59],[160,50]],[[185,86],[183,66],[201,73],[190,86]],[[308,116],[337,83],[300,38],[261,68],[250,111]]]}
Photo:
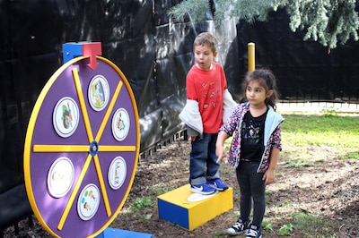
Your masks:
{"label": "white circular panel just below the left half of the horizontal yellow bar", "polygon": [[67,157],[58,157],[48,170],[48,192],[55,198],[64,197],[73,183],[73,163]]}

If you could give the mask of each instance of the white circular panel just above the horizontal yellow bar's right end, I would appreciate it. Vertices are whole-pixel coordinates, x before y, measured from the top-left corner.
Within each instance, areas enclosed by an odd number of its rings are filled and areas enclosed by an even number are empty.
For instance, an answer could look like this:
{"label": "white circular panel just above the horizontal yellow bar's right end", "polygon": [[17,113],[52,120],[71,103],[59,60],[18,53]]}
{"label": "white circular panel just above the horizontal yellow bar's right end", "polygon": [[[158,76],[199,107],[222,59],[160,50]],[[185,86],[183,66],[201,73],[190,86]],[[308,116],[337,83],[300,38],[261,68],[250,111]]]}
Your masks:
{"label": "white circular panel just above the horizontal yellow bar's right end", "polygon": [[112,133],[116,140],[122,141],[129,130],[129,115],[125,108],[119,108],[112,118]]}

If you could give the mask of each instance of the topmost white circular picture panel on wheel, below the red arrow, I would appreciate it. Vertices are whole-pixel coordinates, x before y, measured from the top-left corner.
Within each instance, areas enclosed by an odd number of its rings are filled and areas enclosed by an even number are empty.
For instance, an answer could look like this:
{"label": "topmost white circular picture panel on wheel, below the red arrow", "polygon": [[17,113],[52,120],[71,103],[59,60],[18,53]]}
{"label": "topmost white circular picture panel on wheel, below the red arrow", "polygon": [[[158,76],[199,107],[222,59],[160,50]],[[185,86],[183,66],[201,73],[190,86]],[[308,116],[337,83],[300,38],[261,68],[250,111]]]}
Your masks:
{"label": "topmost white circular picture panel on wheel, below the red arrow", "polygon": [[92,109],[101,111],[109,103],[109,82],[102,75],[92,78],[89,85],[88,97]]}

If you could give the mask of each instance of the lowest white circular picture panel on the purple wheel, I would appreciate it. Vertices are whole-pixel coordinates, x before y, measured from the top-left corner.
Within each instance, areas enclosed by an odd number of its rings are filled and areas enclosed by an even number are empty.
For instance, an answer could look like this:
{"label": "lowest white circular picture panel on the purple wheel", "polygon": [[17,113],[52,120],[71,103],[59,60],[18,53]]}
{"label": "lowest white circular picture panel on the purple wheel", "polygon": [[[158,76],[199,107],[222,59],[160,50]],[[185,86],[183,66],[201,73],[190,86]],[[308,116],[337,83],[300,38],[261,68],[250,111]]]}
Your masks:
{"label": "lowest white circular picture panel on the purple wheel", "polygon": [[84,220],[88,221],[95,216],[97,209],[100,205],[100,191],[99,188],[89,183],[80,193],[79,200],[77,201],[77,213]]}

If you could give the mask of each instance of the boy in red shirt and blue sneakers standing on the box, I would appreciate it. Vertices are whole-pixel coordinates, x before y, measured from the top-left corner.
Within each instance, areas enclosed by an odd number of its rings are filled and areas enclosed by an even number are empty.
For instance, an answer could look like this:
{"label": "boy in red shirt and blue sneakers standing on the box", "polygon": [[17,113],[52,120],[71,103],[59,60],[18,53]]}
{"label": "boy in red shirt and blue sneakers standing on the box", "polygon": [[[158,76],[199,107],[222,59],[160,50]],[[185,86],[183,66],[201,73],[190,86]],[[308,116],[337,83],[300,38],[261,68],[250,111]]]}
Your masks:
{"label": "boy in red shirt and blue sneakers standing on the box", "polygon": [[220,164],[216,163],[215,142],[223,121],[237,105],[227,89],[223,67],[214,62],[217,44],[216,38],[208,32],[195,38],[196,64],[187,75],[187,103],[180,113],[192,146],[190,191],[205,195],[228,189],[218,173]]}

